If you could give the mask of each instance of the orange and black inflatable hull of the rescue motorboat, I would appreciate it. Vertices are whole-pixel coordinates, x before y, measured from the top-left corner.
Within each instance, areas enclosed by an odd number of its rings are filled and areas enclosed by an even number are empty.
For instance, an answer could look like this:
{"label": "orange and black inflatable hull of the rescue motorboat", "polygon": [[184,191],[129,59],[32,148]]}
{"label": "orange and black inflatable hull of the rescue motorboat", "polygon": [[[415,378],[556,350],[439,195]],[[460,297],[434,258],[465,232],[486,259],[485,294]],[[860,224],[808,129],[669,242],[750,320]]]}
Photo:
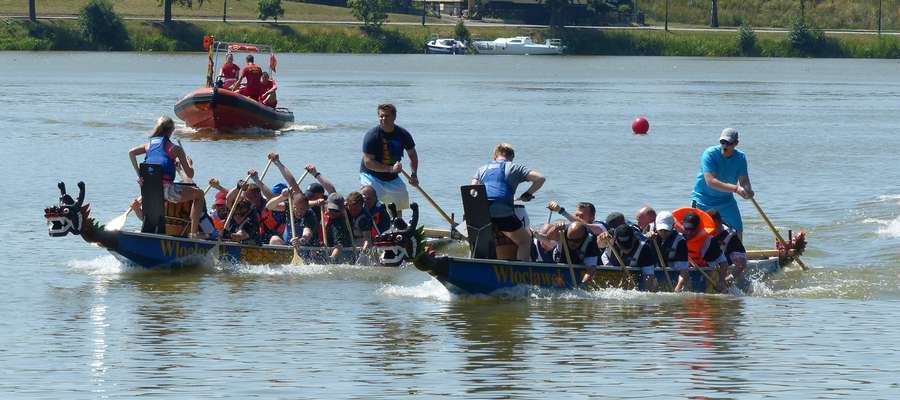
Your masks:
{"label": "orange and black inflatable hull of the rescue motorboat", "polygon": [[188,93],[175,104],[175,115],[194,129],[233,131],[281,129],[294,122],[286,108],[272,108],[227,89],[209,87]]}

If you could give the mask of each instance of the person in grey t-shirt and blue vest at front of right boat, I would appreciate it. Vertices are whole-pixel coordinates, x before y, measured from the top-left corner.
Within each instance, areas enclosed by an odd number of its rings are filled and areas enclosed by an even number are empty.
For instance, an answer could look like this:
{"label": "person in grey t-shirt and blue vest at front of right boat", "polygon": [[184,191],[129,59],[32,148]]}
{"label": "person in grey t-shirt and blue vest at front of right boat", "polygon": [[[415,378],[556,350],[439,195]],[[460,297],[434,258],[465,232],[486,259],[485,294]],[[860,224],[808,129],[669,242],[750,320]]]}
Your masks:
{"label": "person in grey t-shirt and blue vest at front of right boat", "polygon": [[498,144],[494,148],[493,160],[475,171],[472,184],[484,185],[490,204],[491,223],[516,244],[516,259],[531,261],[531,227],[526,227],[516,217],[516,188],[522,182],[531,182],[528,190],[519,196],[519,200],[530,201],[544,185],[545,179],[540,172],[514,163],[515,157],[516,152],[511,144]]}

